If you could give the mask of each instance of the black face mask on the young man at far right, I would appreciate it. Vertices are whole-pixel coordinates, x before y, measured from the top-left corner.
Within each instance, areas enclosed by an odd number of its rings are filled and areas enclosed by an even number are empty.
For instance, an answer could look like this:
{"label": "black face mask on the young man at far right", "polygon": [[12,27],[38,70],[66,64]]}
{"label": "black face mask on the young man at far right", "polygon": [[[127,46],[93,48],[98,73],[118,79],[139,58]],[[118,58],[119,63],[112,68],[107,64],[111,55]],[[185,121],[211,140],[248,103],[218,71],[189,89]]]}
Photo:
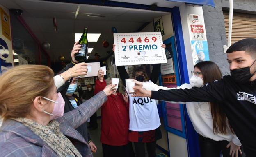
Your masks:
{"label": "black face mask on the young man at far right", "polygon": [[[255,62],[256,60],[254,60]],[[251,64],[251,66],[254,64]],[[250,72],[251,66],[247,66],[245,68],[234,69],[230,71],[231,77],[235,80],[235,82],[239,84],[246,84],[250,82],[250,78],[253,76]],[[256,71],[254,71],[255,73]]]}

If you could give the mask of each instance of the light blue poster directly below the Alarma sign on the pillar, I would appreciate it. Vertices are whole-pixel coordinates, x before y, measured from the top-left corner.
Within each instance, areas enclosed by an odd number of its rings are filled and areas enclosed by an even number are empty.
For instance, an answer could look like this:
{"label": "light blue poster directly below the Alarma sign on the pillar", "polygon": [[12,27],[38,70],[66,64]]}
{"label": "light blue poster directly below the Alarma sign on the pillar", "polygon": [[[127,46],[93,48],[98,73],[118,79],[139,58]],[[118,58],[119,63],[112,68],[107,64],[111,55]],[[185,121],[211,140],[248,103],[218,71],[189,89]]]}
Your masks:
{"label": "light blue poster directly below the Alarma sign on the pillar", "polygon": [[210,60],[207,41],[192,40],[191,46],[194,65],[201,61]]}

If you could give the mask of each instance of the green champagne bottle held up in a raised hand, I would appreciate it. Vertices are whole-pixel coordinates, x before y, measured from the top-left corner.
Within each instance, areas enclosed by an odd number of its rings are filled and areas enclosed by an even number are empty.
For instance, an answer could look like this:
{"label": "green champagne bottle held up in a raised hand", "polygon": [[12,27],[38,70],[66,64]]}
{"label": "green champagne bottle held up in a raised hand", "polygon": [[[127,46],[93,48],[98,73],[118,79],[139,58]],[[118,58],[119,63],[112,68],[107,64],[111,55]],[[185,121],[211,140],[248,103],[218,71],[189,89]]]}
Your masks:
{"label": "green champagne bottle held up in a raised hand", "polygon": [[78,53],[75,53],[75,60],[78,62],[86,62],[87,60],[87,53],[88,53],[88,40],[87,40],[87,28],[84,28],[84,33],[82,34],[79,44],[81,44],[81,49]]}

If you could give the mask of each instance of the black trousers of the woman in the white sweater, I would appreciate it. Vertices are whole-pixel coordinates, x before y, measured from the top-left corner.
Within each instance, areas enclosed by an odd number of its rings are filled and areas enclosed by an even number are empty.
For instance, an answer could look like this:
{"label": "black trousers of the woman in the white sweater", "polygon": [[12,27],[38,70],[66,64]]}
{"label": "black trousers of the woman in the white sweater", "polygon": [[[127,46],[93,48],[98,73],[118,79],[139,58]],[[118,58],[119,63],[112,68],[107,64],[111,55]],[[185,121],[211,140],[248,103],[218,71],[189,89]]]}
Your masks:
{"label": "black trousers of the woman in the white sweater", "polygon": [[[229,155],[230,148],[226,148],[229,141],[214,141],[213,139],[203,137],[199,135],[199,146],[201,157],[220,157],[222,153],[223,157],[231,157]],[[240,147],[242,150],[242,146]],[[242,150],[242,155],[238,152],[238,157],[245,157],[245,153]]]}

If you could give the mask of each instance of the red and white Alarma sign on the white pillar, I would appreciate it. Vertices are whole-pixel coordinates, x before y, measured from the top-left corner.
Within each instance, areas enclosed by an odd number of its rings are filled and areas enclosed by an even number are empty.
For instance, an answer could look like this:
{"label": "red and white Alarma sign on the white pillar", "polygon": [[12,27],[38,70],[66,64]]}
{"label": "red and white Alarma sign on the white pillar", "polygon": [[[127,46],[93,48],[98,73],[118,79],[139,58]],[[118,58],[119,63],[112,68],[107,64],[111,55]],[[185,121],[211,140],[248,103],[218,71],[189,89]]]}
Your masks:
{"label": "red and white Alarma sign on the white pillar", "polygon": [[201,15],[189,14],[190,18],[190,31],[193,40],[205,40],[204,27]]}

